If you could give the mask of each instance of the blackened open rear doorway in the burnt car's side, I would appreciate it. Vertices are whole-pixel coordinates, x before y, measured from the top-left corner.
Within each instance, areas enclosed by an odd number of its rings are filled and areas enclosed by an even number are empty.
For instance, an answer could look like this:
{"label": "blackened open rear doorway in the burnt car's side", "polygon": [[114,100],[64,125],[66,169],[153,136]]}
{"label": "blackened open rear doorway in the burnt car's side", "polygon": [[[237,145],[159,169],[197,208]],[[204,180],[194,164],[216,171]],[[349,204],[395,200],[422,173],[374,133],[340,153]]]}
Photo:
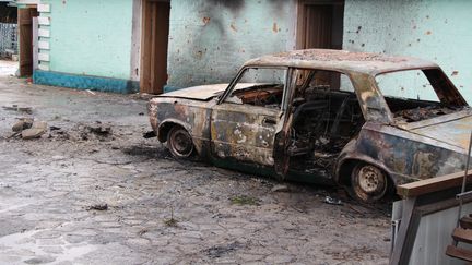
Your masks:
{"label": "blackened open rear doorway in the burnt car's side", "polygon": [[296,70],[294,76],[297,87],[287,146],[290,170],[328,178],[335,157],[361,131],[364,117],[351,80],[344,74]]}

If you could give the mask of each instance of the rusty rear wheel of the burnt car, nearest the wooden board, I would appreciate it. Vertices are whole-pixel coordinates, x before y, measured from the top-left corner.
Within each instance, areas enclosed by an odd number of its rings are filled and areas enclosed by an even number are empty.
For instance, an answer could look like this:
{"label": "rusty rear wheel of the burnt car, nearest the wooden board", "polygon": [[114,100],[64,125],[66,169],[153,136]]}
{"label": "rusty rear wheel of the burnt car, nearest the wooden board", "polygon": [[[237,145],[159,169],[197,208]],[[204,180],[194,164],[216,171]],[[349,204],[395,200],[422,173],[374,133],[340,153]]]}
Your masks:
{"label": "rusty rear wheel of the burnt car, nearest the wooden board", "polygon": [[351,173],[351,195],[363,203],[375,203],[385,196],[388,188],[387,174],[379,168],[359,162]]}

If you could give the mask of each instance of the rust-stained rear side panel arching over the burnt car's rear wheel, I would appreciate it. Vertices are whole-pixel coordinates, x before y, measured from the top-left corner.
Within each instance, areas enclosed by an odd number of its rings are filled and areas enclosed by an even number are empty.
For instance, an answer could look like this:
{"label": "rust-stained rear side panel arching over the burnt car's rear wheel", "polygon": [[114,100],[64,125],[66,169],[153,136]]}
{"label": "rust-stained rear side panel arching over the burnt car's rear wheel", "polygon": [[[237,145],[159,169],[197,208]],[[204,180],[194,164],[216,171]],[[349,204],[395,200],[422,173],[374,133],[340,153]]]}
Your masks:
{"label": "rust-stained rear side panel arching over the burnt car's rear wheel", "polygon": [[382,124],[366,123],[357,138],[340,154],[335,180],[347,160],[374,164],[387,171],[396,184],[462,171],[465,155],[445,143]]}

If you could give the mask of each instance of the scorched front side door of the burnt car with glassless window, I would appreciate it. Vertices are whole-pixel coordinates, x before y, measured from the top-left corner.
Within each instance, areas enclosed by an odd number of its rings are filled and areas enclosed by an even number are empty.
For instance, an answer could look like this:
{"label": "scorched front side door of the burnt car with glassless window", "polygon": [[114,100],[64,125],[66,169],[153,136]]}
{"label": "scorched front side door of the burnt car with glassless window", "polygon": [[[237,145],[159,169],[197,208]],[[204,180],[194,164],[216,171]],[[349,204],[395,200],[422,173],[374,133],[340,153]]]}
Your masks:
{"label": "scorched front side door of the burnt car with glassless window", "polygon": [[[282,70],[284,72],[283,80],[281,77],[280,82],[283,84],[257,83],[258,80],[252,79],[245,80],[240,76],[245,72],[241,70],[239,77],[235,79],[219,104],[213,107],[211,152],[215,159],[267,167],[274,166],[273,144],[276,128],[282,117],[282,96],[279,98],[280,103],[270,106],[247,101],[247,98],[250,94],[264,96],[273,92],[283,95],[286,70]],[[240,85],[241,82],[239,81],[256,81],[256,83]],[[245,87],[245,89],[243,92],[234,89],[238,86]]]}

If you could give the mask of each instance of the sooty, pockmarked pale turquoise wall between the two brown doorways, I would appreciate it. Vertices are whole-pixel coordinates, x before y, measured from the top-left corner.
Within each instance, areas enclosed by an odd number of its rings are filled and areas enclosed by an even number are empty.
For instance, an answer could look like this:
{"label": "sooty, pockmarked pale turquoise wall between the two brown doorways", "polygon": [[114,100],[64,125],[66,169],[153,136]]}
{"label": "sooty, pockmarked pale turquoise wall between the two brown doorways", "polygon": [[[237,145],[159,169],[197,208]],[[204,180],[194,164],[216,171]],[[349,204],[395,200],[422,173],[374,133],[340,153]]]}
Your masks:
{"label": "sooty, pockmarked pale turquoise wall between the two brown doorways", "polygon": [[246,60],[294,49],[295,3],[173,0],[168,86],[227,83]]}

